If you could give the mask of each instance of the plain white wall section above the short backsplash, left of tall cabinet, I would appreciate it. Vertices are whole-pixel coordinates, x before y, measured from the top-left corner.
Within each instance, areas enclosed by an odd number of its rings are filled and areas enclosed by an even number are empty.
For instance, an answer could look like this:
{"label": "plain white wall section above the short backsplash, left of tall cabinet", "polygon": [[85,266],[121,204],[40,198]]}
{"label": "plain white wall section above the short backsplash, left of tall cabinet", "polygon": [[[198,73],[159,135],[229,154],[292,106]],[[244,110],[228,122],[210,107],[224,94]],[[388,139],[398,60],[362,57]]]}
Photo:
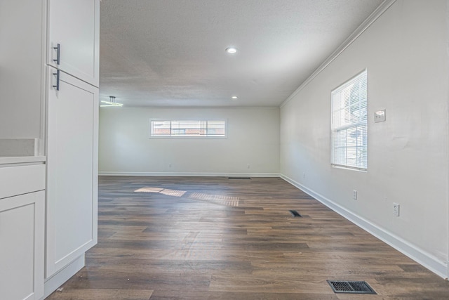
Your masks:
{"label": "plain white wall section above the short backsplash, left of tall cabinet", "polygon": [[43,138],[44,1],[0,1],[0,138]]}

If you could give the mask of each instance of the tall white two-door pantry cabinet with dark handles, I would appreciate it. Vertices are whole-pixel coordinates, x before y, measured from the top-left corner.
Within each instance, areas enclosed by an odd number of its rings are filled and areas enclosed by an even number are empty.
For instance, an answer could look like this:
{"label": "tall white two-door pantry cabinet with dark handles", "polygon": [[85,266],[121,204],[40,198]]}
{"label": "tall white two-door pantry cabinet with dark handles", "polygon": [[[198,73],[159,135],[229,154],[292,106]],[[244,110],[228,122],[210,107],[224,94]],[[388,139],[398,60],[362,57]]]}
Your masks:
{"label": "tall white two-door pantry cabinet with dark handles", "polygon": [[99,0],[47,0],[44,296],[97,243]]}

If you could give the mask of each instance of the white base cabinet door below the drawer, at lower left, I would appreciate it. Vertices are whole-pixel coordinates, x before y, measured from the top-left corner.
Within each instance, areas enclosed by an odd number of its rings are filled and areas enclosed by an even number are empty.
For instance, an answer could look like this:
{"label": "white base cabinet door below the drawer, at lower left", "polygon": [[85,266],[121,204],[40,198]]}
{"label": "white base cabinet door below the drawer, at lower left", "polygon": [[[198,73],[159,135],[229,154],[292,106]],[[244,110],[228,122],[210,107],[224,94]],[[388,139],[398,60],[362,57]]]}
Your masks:
{"label": "white base cabinet door below the drawer, at lower left", "polygon": [[43,296],[43,191],[0,199],[0,298]]}

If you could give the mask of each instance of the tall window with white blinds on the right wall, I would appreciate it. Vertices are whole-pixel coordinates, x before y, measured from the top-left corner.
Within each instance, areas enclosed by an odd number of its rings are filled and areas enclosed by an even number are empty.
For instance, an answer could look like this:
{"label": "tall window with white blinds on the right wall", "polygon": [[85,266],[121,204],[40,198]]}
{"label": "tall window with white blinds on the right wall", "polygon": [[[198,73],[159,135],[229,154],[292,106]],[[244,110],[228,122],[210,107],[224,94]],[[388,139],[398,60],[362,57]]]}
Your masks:
{"label": "tall window with white blinds on the right wall", "polygon": [[368,113],[366,70],[332,91],[332,164],[366,170]]}

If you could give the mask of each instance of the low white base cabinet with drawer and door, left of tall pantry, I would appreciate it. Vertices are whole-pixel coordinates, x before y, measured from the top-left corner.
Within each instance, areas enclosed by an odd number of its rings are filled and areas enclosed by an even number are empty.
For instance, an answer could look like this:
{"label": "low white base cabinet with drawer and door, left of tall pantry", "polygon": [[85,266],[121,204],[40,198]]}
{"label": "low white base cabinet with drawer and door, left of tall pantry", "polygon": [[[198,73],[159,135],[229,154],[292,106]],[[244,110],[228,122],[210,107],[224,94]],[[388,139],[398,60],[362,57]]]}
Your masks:
{"label": "low white base cabinet with drawer and door, left of tall pantry", "polygon": [[0,298],[37,300],[43,295],[45,167],[0,167],[0,183]]}

